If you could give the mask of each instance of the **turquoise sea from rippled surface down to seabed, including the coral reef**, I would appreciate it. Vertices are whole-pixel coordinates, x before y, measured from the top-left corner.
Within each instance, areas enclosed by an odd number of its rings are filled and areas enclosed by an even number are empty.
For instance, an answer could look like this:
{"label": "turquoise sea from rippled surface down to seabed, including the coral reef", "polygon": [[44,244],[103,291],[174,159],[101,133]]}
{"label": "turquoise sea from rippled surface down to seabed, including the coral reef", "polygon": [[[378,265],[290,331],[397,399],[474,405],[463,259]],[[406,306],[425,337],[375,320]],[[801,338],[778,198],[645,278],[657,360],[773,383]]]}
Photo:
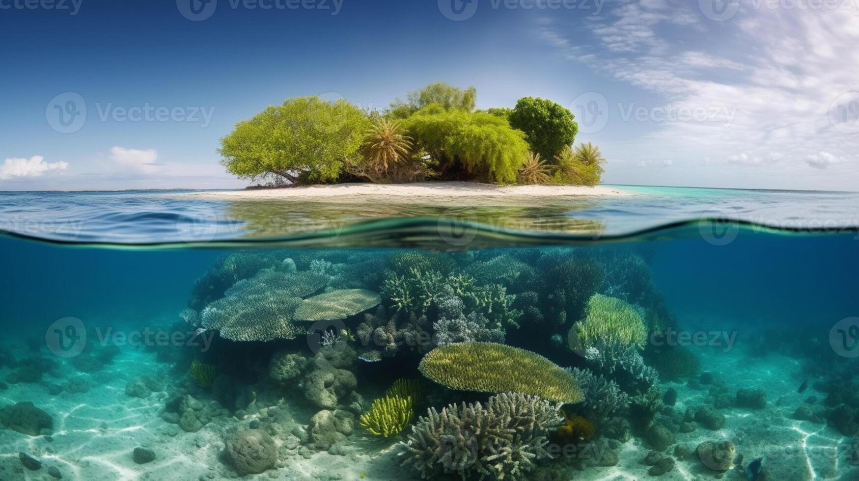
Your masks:
{"label": "turquoise sea from rippled surface down to seabed, including the coral reef", "polygon": [[619,188],[0,193],[0,479],[859,478],[856,194]]}

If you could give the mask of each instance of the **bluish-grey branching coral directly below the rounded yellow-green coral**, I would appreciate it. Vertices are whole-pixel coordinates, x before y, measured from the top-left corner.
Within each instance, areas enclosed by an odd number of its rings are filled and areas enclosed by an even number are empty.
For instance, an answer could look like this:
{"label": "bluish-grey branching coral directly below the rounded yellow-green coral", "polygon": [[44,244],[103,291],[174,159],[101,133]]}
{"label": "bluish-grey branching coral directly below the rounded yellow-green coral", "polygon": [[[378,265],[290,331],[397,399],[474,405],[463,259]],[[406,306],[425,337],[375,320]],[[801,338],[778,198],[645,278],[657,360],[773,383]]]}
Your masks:
{"label": "bluish-grey branching coral directly below the rounded yellow-green coral", "polygon": [[659,381],[656,369],[644,364],[636,346],[608,341],[601,348],[585,351],[588,364],[600,374],[610,376],[627,393],[647,391]]}

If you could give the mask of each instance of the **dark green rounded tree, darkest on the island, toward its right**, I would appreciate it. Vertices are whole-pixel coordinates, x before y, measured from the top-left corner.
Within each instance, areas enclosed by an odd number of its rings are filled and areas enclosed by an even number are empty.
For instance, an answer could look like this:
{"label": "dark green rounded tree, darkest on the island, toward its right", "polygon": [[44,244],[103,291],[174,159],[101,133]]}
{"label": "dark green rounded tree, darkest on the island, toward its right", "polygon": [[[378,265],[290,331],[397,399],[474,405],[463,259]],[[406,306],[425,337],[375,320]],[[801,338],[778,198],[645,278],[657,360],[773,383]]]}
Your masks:
{"label": "dark green rounded tree, darkest on the island, toward its right", "polygon": [[569,109],[538,97],[523,97],[510,113],[510,125],[525,132],[531,149],[552,159],[576,140],[579,125]]}

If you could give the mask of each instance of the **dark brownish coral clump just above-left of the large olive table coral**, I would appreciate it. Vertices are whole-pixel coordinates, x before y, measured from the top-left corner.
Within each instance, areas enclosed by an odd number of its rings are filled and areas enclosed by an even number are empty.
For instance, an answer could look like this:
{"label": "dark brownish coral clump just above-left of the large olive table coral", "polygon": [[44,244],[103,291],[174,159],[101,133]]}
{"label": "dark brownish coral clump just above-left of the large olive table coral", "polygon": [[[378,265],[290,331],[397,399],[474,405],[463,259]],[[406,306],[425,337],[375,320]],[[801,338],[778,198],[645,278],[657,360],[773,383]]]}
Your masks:
{"label": "dark brownish coral clump just above-left of the large olive table coral", "polygon": [[364,321],[358,325],[356,339],[362,360],[375,362],[396,356],[400,350],[423,352],[430,349],[430,321],[425,315],[388,312],[384,306],[379,306],[375,314],[364,314]]}

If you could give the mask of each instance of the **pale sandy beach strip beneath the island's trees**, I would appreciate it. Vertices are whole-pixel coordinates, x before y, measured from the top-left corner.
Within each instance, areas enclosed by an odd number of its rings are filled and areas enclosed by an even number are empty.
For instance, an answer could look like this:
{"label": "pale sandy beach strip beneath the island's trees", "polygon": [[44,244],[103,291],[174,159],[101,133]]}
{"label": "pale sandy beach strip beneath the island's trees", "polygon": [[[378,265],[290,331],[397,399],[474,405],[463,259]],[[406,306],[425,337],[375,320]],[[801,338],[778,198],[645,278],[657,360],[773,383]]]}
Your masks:
{"label": "pale sandy beach strip beneath the island's trees", "polygon": [[625,197],[635,195],[607,186],[495,186],[476,182],[416,182],[413,184],[336,184],[244,191],[188,192],[181,196],[229,200],[308,200],[328,202],[445,202],[457,199],[499,201],[527,198]]}

